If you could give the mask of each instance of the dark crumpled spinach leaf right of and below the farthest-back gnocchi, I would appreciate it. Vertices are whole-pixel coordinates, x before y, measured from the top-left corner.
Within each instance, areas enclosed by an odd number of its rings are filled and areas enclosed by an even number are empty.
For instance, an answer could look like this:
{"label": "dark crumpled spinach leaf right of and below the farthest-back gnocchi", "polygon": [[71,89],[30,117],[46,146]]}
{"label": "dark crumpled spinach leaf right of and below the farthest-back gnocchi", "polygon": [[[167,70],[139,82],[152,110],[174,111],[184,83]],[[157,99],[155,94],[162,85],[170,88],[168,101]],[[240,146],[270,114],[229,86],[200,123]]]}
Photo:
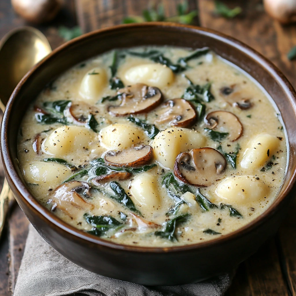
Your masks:
{"label": "dark crumpled spinach leaf right of and below the farthest-back gnocchi", "polygon": [[215,99],[211,93],[211,83],[206,83],[201,86],[199,84],[194,84],[186,75],[184,75],[184,77],[188,80],[189,86],[182,96],[183,99],[188,101],[199,99],[204,102],[211,102]]}

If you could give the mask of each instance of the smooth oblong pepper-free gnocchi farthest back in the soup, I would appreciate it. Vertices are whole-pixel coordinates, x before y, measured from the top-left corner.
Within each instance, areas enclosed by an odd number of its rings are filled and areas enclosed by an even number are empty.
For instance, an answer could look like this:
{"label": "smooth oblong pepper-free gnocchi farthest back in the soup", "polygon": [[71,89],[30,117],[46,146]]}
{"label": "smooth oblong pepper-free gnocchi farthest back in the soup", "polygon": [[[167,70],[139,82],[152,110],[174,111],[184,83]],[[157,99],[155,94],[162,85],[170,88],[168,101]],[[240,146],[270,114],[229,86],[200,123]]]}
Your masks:
{"label": "smooth oblong pepper-free gnocchi farthest back in the soup", "polygon": [[126,85],[135,83],[145,83],[149,86],[166,87],[174,81],[173,71],[161,64],[143,64],[128,69],[123,81]]}

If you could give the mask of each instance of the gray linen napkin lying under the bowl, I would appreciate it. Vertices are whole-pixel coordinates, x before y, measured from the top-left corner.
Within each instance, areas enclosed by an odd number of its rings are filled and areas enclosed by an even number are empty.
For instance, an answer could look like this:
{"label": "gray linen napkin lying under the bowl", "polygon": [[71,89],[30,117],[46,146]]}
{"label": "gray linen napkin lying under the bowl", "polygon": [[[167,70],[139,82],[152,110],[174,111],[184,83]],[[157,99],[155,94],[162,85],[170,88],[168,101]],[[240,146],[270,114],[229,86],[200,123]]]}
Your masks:
{"label": "gray linen napkin lying under the bowl", "polygon": [[110,279],[67,260],[30,225],[14,296],[221,296],[231,278],[225,274],[197,284],[161,287]]}

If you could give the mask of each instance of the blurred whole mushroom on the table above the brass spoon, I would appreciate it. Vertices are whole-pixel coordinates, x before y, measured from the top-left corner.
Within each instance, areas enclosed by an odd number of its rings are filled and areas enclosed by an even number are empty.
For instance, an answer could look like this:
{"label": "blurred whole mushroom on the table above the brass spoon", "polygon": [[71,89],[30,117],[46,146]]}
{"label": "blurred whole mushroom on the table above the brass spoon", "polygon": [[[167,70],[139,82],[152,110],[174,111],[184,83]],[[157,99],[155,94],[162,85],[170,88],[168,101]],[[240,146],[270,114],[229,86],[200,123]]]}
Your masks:
{"label": "blurred whole mushroom on the table above the brass spoon", "polygon": [[51,21],[59,12],[63,0],[11,0],[13,9],[28,22],[40,24]]}

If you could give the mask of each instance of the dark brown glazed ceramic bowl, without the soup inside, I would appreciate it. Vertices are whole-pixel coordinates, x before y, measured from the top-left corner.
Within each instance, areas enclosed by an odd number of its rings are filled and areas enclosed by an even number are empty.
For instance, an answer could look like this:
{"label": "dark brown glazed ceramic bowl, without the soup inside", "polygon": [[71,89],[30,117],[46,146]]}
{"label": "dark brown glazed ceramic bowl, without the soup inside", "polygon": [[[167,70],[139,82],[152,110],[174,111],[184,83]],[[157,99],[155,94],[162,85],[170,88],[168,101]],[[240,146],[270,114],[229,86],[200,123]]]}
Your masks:
{"label": "dark brown glazed ceramic bowl, without the soup inside", "polygon": [[[79,231],[46,210],[30,194],[17,164],[17,133],[28,104],[46,83],[85,59],[110,49],[141,45],[209,46],[255,78],[277,104],[289,140],[287,175],[274,203],[258,218],[211,241],[171,248],[119,245]],[[200,281],[230,271],[274,235],[295,183],[295,91],[268,60],[241,42],[212,30],[170,23],[122,25],[91,32],[54,50],[25,75],[2,121],[1,152],[9,186],[44,239],[74,263],[103,276],[146,285]]]}

